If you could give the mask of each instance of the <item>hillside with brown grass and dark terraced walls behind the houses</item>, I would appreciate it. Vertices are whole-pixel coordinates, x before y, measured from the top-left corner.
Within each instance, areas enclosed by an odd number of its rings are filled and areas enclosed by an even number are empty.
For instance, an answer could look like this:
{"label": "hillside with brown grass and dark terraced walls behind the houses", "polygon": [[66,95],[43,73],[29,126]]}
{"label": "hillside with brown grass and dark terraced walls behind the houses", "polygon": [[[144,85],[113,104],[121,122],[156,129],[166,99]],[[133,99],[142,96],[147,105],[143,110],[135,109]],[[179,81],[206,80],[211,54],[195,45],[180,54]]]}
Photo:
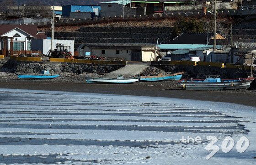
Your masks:
{"label": "hillside with brown grass and dark terraced walls behind the houses", "polygon": [[[57,26],[55,27],[55,39],[74,40],[75,49],[83,43],[152,43],[155,44],[173,38],[172,29],[176,26],[177,19],[145,20],[145,21],[118,21],[93,23],[81,26]],[[189,18],[187,18],[189,20]],[[203,29],[213,31],[213,20],[201,18]],[[218,28],[225,29],[232,20],[221,18],[218,20]],[[51,28],[38,28],[38,31],[46,32],[51,36]],[[223,31],[228,32],[228,31]],[[180,34],[180,33],[179,33]]]}

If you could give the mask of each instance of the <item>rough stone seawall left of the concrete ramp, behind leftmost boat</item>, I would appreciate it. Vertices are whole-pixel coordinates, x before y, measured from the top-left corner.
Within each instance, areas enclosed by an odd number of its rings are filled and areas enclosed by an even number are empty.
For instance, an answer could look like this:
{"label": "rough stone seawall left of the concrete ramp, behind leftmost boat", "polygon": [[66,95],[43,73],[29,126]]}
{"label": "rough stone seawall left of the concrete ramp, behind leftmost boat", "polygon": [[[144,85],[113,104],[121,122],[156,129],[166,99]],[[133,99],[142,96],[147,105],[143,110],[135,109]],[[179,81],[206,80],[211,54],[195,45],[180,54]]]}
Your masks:
{"label": "rough stone seawall left of the concrete ramp, behind leftmost boat", "polygon": [[8,72],[19,73],[40,73],[41,70],[48,70],[53,73],[109,73],[115,71],[121,67],[121,65],[96,65],[96,64],[81,64],[81,63],[59,63],[59,62],[17,62],[14,60],[8,60],[2,65],[1,69],[8,70]]}

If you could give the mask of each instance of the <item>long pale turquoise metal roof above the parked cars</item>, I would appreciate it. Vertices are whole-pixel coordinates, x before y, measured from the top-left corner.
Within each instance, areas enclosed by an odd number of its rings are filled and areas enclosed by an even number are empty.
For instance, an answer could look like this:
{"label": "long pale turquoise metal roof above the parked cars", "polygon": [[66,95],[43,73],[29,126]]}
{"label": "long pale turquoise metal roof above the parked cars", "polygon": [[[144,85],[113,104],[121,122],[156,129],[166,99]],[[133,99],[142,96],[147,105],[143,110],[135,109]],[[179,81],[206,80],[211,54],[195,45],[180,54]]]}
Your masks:
{"label": "long pale turquoise metal roof above the parked cars", "polygon": [[[213,45],[204,45],[204,44],[161,44],[158,45],[160,49],[193,49],[197,47],[210,47]],[[220,48],[220,45],[216,45],[216,48]]]}

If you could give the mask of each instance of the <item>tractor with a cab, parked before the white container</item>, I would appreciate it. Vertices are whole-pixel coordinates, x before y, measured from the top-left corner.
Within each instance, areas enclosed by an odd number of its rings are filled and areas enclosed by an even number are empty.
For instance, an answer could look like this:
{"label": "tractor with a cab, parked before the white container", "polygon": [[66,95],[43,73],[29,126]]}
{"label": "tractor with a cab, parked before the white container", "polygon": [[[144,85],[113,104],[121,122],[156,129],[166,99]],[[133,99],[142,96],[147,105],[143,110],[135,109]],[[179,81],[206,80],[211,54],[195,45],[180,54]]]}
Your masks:
{"label": "tractor with a cab, parked before the white container", "polygon": [[53,57],[53,58],[69,58],[69,59],[74,58],[70,52],[69,45],[56,45],[56,49],[49,50],[49,52],[47,53],[47,56]]}

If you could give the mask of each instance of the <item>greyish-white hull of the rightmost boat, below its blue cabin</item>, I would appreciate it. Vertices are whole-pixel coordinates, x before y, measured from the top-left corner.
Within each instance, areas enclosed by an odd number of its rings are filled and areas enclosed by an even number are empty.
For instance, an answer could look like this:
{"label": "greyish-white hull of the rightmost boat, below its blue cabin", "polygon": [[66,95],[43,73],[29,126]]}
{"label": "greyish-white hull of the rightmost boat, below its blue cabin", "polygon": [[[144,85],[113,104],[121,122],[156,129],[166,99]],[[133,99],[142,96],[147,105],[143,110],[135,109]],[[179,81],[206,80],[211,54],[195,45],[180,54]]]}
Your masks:
{"label": "greyish-white hull of the rightmost boat, below its blue cabin", "polygon": [[234,82],[221,82],[221,83],[195,83],[184,82],[181,83],[186,90],[232,90],[232,89],[248,89],[254,79],[245,79],[242,81]]}

